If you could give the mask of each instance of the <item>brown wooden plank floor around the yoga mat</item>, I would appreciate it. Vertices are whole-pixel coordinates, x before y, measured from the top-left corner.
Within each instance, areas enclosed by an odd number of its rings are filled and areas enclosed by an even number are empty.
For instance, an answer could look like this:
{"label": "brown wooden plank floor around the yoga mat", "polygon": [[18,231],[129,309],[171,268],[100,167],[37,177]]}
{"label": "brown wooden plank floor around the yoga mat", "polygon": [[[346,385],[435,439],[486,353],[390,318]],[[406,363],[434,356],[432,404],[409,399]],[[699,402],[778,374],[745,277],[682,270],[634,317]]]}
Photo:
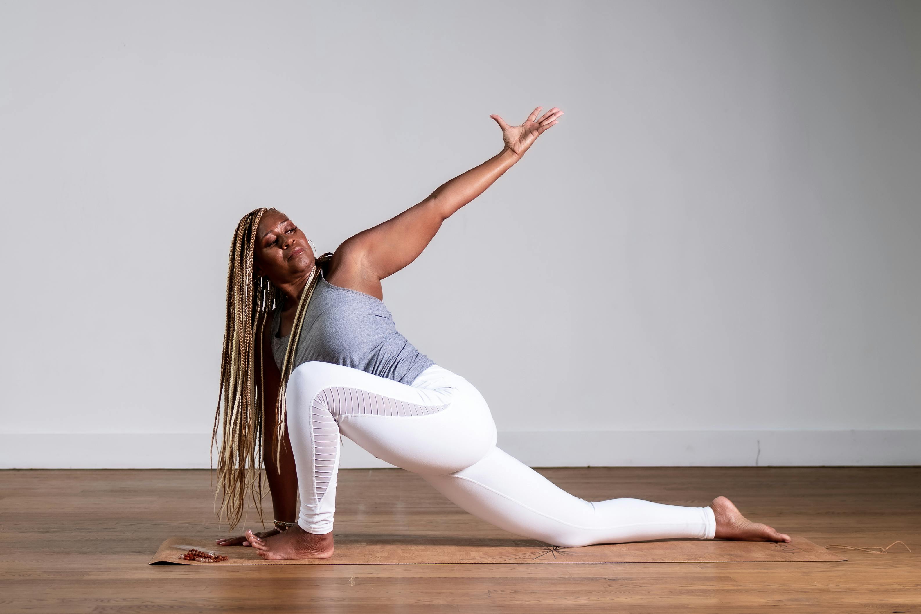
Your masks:
{"label": "brown wooden plank floor around the yoga mat", "polygon": [[[901,539],[914,551],[799,563],[147,565],[166,537],[225,535],[207,471],[7,470],[0,612],[921,612],[921,467],[541,473],[589,501],[704,505],[725,494],[822,546]],[[400,469],[341,471],[336,532],[350,531],[512,537]]]}

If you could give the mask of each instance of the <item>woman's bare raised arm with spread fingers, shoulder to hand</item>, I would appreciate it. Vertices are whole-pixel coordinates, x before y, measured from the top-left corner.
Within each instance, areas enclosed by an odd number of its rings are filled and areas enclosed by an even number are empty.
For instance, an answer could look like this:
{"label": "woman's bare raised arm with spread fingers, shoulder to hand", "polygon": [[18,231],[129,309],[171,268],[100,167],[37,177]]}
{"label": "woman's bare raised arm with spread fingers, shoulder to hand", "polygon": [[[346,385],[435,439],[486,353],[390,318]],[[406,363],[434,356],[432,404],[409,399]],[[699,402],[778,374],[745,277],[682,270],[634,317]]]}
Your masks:
{"label": "woman's bare raised arm with spread fingers, shoulder to hand", "polygon": [[530,113],[523,124],[509,126],[498,115],[490,115],[502,128],[502,151],[483,164],[443,183],[421,203],[400,215],[363,230],[344,242],[360,254],[362,269],[378,279],[389,277],[413,262],[441,228],[441,222],[471,202],[510,169],[534,140],[563,114],[554,107],[535,119],[542,107]]}

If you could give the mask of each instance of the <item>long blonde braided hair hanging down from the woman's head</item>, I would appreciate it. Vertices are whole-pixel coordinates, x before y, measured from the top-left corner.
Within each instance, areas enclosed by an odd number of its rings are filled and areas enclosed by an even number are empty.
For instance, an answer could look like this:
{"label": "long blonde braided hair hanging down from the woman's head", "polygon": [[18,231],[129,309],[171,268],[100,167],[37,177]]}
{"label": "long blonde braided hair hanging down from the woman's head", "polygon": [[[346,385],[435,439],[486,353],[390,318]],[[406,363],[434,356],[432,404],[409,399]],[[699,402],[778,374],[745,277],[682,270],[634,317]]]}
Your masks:
{"label": "long blonde braided hair hanging down from the woman's head", "polygon": [[[262,419],[265,412],[264,360],[260,351],[259,384],[254,382],[255,352],[262,350],[262,333],[269,313],[275,308],[275,288],[266,276],[254,277],[253,254],[256,230],[267,207],[253,209],[237,224],[230,242],[227,266],[227,324],[224,327],[224,348],[221,356],[221,379],[217,395],[215,425],[211,433],[211,449],[217,438],[221,398],[224,399],[222,445],[218,452],[218,487],[223,490],[221,509],[227,513],[228,531],[239,524],[243,515],[247,490],[259,512],[262,525]],[[332,252],[315,261],[307,285],[297,302],[295,321],[288,336],[281,382],[275,398],[276,429],[274,433],[275,466],[281,471],[281,447],[285,441],[285,390],[291,364],[300,338],[300,328],[307,313],[310,295],[320,278],[320,266],[332,258]],[[213,461],[212,461],[213,465]],[[257,488],[253,488],[257,484]],[[256,495],[259,495],[258,498]],[[217,492],[215,492],[215,498]]]}

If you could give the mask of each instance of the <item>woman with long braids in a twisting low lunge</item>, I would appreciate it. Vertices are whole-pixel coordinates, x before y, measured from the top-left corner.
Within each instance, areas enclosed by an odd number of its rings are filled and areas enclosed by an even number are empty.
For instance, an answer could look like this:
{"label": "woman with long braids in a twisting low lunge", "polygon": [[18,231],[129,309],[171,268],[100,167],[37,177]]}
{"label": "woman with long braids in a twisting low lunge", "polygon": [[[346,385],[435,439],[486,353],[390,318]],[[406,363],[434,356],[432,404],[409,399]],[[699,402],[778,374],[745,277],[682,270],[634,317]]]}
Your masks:
{"label": "woman with long braids in a twisting low lunge", "polygon": [[[537,119],[541,109],[517,126],[491,115],[505,141],[499,154],[334,254],[316,258],[304,232],[275,209],[240,220],[227,274],[222,511],[237,525],[246,490],[259,507],[254,460],[261,440],[262,449],[275,450],[264,464],[276,518],[272,530],[247,530],[218,545],[252,546],[264,559],[332,556],[340,433],[420,474],[467,512],[556,546],[675,537],[789,541],[745,519],[725,497],[706,507],[586,502],[557,488],[495,447],[495,423],[472,384],[396,331],[380,280],[413,262],[445,219],[563,115],[554,107]],[[264,410],[265,400],[275,402],[274,411]]]}

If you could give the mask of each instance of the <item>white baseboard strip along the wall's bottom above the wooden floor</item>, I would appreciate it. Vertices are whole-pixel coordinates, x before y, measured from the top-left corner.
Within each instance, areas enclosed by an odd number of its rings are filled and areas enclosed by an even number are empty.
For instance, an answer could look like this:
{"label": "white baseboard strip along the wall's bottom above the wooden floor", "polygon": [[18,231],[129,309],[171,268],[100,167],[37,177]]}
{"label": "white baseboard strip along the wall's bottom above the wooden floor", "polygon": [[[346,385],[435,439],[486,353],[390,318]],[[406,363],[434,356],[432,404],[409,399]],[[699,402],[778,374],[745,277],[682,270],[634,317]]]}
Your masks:
{"label": "white baseboard strip along the wall's bottom above the wooden floor", "polygon": [[[0,468],[206,469],[210,442],[210,433],[0,433]],[[342,468],[392,467],[343,443]],[[918,430],[507,431],[497,444],[542,467],[921,465]]]}

